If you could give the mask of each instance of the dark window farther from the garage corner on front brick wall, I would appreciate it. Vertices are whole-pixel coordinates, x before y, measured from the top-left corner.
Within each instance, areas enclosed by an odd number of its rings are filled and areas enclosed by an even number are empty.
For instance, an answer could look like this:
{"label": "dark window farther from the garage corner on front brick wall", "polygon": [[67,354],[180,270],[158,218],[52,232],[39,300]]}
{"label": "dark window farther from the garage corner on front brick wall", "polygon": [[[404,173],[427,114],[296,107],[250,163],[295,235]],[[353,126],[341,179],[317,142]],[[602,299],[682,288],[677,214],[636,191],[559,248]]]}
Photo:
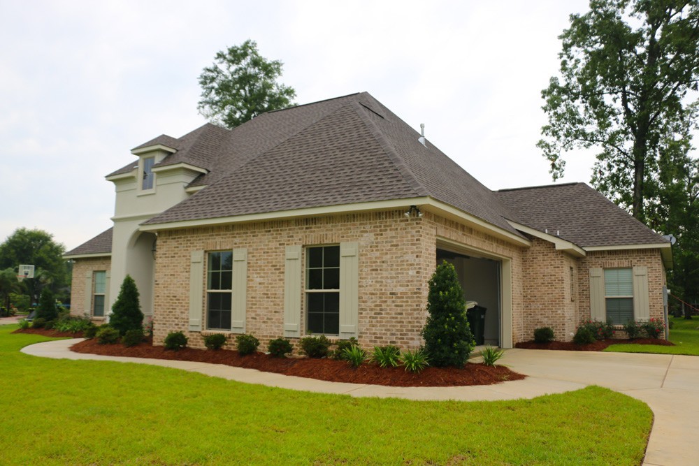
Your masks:
{"label": "dark window farther from the garage corner on front brick wall", "polygon": [[233,252],[210,252],[206,271],[207,328],[231,329],[232,284]]}

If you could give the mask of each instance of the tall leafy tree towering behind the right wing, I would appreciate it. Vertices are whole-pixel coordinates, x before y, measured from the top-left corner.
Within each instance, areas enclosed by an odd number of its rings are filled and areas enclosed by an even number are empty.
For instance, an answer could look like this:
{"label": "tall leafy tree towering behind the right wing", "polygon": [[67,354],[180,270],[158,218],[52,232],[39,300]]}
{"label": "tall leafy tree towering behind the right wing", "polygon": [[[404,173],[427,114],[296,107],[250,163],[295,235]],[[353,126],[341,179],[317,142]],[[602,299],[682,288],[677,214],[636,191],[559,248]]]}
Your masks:
{"label": "tall leafy tree towering behind the right wing", "polygon": [[571,15],[559,37],[561,76],[542,91],[549,122],[538,147],[554,180],[563,175],[561,152],[600,150],[593,185],[644,221],[663,153],[691,148],[699,3],[591,0],[590,8]]}

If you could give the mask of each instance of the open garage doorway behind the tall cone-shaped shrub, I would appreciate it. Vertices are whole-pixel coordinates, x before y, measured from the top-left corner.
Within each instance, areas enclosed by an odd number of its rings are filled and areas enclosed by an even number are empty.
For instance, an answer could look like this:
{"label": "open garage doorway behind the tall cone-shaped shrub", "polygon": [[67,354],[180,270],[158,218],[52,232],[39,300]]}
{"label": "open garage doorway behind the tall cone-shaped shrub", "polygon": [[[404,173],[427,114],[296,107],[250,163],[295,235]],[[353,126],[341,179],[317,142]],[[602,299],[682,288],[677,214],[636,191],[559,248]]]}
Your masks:
{"label": "open garage doorway behind the tall cone-shaped shrub", "polygon": [[485,308],[484,344],[503,347],[502,342],[502,261],[477,252],[456,252],[452,248],[437,249],[437,263],[454,265],[467,302],[475,301]]}

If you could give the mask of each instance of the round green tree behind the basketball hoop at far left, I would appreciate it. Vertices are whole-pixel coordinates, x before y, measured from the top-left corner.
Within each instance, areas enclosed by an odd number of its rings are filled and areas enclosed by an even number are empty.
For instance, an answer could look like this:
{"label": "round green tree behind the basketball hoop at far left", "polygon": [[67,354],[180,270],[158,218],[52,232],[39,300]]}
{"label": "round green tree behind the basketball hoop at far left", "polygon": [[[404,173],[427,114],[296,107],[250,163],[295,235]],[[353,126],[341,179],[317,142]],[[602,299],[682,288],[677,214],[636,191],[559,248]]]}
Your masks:
{"label": "round green tree behind the basketball hoop at far left", "polygon": [[68,264],[63,259],[65,251],[64,245],[55,242],[50,233],[17,228],[0,245],[0,269],[13,268],[16,272],[20,264],[34,265],[34,278],[24,279],[21,286],[36,303],[44,286],[58,293],[70,283]]}

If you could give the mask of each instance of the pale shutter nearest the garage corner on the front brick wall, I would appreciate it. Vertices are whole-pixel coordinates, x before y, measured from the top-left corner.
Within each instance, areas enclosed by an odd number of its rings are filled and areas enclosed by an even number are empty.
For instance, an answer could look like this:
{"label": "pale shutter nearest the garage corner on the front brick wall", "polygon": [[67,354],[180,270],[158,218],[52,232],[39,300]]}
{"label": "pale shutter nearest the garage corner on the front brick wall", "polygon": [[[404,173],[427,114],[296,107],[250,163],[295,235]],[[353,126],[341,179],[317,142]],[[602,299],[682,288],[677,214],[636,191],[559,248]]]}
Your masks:
{"label": "pale shutter nearest the garage corner on the front brick wall", "polygon": [[340,243],[340,338],[358,337],[359,244]]}

